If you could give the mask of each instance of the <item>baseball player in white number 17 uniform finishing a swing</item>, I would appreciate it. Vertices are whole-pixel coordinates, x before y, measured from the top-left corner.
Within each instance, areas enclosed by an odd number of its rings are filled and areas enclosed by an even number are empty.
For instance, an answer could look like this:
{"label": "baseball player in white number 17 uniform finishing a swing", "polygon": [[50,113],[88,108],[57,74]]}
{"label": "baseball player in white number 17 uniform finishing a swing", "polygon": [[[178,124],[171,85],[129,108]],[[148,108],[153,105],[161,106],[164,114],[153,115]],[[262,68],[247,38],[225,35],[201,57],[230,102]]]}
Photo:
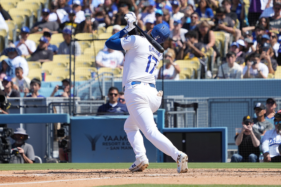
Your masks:
{"label": "baseball player in white number 17 uniform finishing a swing", "polygon": [[[124,130],[136,154],[136,161],[129,170],[143,171],[149,165],[141,135],[143,132],[154,146],[177,162],[179,173],[187,172],[188,156],[159,132],[153,118],[153,113],[160,107],[163,95],[163,91],[156,90],[154,77],[162,53],[158,52],[145,37],[131,35],[122,38],[135,28],[133,23],[137,23],[133,12],[126,14],[125,19],[127,26],[111,36],[105,44],[110,49],[126,50],[122,86],[130,116],[126,119]],[[147,34],[161,44],[169,37],[170,30],[161,23]]]}

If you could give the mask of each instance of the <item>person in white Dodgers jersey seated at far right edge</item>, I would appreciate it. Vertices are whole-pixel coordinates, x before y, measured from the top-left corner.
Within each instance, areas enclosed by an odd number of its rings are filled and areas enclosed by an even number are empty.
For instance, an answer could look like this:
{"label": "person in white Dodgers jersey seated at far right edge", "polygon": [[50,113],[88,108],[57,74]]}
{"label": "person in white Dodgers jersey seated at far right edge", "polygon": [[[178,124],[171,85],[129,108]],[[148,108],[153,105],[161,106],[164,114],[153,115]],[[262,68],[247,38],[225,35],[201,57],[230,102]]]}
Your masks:
{"label": "person in white Dodgers jersey seated at far right edge", "polygon": [[[278,112],[281,112],[279,110]],[[278,146],[281,143],[281,119],[274,119],[275,128],[265,132],[261,140],[261,151],[264,154],[264,162],[281,162]]]}

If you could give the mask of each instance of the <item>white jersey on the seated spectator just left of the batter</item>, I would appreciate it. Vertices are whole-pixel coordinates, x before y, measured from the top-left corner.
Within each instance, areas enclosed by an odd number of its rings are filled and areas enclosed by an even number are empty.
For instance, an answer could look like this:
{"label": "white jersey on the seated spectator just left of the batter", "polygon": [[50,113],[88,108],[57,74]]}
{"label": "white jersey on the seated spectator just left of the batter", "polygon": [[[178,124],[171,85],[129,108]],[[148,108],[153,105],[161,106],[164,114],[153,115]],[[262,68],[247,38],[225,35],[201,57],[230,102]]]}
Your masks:
{"label": "white jersey on the seated spectator just left of the batter", "polygon": [[121,51],[117,50],[114,50],[111,53],[107,50],[101,50],[96,55],[96,61],[101,62],[106,67],[116,68],[117,65],[123,64],[124,55]]}

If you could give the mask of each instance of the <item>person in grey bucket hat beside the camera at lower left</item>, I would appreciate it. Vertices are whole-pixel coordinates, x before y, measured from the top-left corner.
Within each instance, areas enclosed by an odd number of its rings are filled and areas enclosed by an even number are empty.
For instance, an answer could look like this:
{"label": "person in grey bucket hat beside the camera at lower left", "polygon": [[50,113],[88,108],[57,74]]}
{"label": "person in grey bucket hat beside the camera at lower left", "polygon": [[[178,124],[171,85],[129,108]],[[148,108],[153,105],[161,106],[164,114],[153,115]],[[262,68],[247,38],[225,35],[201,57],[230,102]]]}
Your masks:
{"label": "person in grey bucket hat beside the camera at lower left", "polygon": [[26,130],[23,128],[16,128],[16,131],[11,136],[15,140],[15,143],[12,144],[12,149],[17,148],[19,154],[12,156],[10,158],[10,164],[23,164],[29,163],[33,164],[35,161],[35,153],[32,145],[26,143],[25,141],[29,138]]}

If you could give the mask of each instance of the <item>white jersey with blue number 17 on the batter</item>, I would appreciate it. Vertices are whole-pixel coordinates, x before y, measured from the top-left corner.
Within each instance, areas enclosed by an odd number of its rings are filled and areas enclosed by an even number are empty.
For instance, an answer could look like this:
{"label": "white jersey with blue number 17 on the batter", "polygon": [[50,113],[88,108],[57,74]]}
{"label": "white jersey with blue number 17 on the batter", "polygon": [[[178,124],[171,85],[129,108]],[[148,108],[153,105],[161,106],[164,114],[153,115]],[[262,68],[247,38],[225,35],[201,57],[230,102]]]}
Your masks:
{"label": "white jersey with blue number 17 on the batter", "polygon": [[121,45],[126,50],[122,86],[132,81],[155,84],[155,70],[162,53],[145,37],[137,35],[121,38]]}

